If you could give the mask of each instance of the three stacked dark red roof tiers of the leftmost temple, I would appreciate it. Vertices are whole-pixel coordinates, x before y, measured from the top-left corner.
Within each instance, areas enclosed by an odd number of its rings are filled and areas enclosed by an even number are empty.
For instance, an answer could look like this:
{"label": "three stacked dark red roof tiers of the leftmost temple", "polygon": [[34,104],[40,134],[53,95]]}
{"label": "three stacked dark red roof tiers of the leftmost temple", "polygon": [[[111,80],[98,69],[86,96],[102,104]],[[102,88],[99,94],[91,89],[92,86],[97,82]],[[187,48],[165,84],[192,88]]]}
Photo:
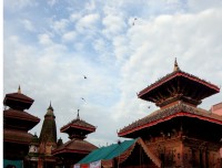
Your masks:
{"label": "three stacked dark red roof tiers of the leftmost temple", "polygon": [[33,99],[21,93],[20,86],[18,93],[7,94],[3,101],[3,133],[4,141],[17,141],[29,144],[32,135],[27,133],[33,128],[40,118],[24,112],[32,105]]}

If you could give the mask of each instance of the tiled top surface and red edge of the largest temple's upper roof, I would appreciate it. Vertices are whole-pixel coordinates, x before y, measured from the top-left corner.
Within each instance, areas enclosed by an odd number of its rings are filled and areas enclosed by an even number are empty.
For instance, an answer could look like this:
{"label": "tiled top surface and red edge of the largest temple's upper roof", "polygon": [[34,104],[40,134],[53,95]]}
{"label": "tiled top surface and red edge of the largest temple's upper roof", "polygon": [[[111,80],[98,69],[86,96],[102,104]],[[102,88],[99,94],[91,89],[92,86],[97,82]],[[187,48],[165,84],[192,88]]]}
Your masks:
{"label": "tiled top surface and red edge of the largest temple's upper roof", "polygon": [[145,87],[144,90],[142,90],[140,93],[139,93],[139,97],[141,97],[143,94],[150,92],[151,90],[154,90],[157,88],[158,86],[162,85],[163,83],[174,78],[175,76],[183,76],[183,77],[186,77],[191,81],[194,81],[196,83],[200,83],[202,85],[205,85],[208,86],[209,88],[211,88],[213,92],[218,93],[220,92],[220,88],[214,85],[214,84],[211,84],[210,82],[206,82],[204,80],[201,80],[192,74],[189,74],[189,73],[185,73],[181,70],[178,70],[178,71],[174,71],[172,73],[169,73],[167,74],[165,76],[163,76],[162,78],[158,80],[157,82],[154,82],[153,84],[149,85],[148,87]]}

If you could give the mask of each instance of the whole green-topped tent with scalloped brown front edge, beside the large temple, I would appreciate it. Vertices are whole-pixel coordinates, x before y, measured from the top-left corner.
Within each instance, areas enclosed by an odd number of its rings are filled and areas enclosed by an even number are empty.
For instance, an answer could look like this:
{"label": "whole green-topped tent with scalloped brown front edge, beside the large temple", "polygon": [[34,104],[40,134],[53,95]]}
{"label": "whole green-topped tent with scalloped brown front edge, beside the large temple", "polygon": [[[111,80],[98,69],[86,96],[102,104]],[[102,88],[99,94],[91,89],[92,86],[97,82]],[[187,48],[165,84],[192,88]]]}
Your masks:
{"label": "whole green-topped tent with scalloped brown front edge, beside the large temple", "polygon": [[[74,168],[111,168],[115,164],[122,164],[133,154],[135,146],[143,149],[147,160],[155,167],[161,167],[161,160],[150,150],[141,138],[124,140],[122,143],[113,144],[107,147],[101,147],[91,151],[82,160],[74,165]],[[140,157],[135,155],[134,157]],[[115,162],[115,161],[118,162]],[[115,164],[114,164],[115,162]],[[147,162],[148,164],[148,162]]]}

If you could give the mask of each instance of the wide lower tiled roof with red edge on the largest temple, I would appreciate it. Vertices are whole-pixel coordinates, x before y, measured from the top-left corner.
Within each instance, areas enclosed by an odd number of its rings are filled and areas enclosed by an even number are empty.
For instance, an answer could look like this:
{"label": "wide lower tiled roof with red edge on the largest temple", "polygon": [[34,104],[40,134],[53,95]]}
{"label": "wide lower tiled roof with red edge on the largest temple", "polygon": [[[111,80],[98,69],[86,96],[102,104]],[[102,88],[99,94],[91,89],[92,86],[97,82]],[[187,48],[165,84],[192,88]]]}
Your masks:
{"label": "wide lower tiled roof with red edge on the largest temple", "polygon": [[155,111],[152,114],[148,115],[147,117],[130,124],[129,126],[122,128],[118,133],[118,135],[124,136],[135,130],[153,126],[158,123],[162,123],[178,116],[198,117],[202,120],[208,120],[211,123],[216,123],[222,125],[222,116],[212,114],[209,111],[196,108],[183,103],[178,103],[168,108]]}

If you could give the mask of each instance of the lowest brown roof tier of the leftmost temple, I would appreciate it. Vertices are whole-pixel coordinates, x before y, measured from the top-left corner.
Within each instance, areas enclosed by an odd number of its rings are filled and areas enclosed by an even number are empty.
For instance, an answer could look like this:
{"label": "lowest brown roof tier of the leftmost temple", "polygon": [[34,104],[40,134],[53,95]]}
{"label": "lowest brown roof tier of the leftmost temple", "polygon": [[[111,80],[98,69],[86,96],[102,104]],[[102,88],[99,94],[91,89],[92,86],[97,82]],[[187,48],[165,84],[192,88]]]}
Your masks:
{"label": "lowest brown roof tier of the leftmost temple", "polygon": [[31,139],[32,135],[27,132],[3,129],[3,141],[29,145]]}

